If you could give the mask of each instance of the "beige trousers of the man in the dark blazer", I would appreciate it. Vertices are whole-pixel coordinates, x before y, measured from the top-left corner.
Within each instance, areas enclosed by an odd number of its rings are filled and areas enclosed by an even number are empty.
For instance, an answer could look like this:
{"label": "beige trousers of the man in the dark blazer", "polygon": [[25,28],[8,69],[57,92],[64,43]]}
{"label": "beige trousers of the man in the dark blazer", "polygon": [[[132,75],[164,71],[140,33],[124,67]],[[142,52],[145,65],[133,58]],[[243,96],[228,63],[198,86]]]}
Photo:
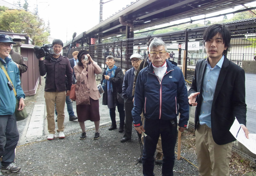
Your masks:
{"label": "beige trousers of the man in the dark blazer", "polygon": [[196,128],[196,153],[199,176],[229,176],[229,159],[233,143],[218,145],[207,125]]}

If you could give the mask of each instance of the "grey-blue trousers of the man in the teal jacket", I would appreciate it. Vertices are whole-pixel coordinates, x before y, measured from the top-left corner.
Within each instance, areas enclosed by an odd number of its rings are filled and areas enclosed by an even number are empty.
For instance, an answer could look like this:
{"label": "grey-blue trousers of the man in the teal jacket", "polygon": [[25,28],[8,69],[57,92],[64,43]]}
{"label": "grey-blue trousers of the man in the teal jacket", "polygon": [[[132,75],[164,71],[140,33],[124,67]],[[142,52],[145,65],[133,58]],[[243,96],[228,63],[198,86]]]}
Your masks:
{"label": "grey-blue trousers of the man in the teal jacket", "polygon": [[0,115],[0,156],[3,166],[13,163],[15,158],[15,148],[19,141],[15,115]]}

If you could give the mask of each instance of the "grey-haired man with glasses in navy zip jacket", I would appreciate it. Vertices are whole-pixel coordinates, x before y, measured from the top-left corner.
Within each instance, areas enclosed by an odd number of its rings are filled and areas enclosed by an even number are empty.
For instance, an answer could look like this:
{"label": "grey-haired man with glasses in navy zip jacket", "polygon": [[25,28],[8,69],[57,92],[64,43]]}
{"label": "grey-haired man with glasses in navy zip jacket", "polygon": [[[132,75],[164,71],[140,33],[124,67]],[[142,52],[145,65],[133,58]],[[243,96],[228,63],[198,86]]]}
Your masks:
{"label": "grey-haired man with glasses in navy zip jacket", "polygon": [[[161,134],[163,148],[162,175],[173,175],[174,148],[177,139],[177,115],[180,112],[179,130],[187,127],[189,117],[188,91],[182,71],[167,59],[169,53],[163,40],[154,38],[149,45],[151,63],[142,69],[137,78],[132,117],[135,129],[145,132],[142,156],[143,175],[154,175],[154,154]],[[179,105],[179,106],[178,106]],[[142,126],[141,112],[145,123]]]}

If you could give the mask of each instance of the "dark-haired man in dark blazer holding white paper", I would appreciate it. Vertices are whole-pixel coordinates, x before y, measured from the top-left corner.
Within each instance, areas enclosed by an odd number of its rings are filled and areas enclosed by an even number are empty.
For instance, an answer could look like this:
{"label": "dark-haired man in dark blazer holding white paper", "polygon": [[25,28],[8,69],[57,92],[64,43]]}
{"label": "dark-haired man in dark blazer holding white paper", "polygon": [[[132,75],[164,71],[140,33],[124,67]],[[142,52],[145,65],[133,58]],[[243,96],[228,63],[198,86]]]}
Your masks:
{"label": "dark-haired man in dark blazer holding white paper", "polygon": [[229,132],[235,117],[248,138],[244,70],[225,55],[231,33],[225,25],[215,24],[204,31],[208,57],[196,64],[189,104],[196,106],[195,129],[200,176],[229,176],[232,142]]}

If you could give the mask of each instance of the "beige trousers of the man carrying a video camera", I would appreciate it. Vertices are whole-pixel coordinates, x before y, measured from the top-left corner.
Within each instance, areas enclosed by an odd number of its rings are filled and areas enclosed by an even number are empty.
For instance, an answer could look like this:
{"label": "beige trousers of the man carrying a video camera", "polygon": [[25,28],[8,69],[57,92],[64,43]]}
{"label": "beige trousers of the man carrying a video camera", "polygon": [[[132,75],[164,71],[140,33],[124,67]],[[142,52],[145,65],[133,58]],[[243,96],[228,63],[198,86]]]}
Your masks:
{"label": "beige trousers of the man carrying a video camera", "polygon": [[44,99],[45,99],[45,105],[46,105],[46,112],[47,112],[47,123],[48,123],[48,131],[51,134],[55,134],[55,120],[54,120],[54,109],[55,109],[55,103],[56,103],[56,109],[57,109],[57,125],[58,129],[57,131],[63,131],[64,130],[64,107],[65,107],[65,101],[66,101],[66,91],[63,92],[44,92]]}

